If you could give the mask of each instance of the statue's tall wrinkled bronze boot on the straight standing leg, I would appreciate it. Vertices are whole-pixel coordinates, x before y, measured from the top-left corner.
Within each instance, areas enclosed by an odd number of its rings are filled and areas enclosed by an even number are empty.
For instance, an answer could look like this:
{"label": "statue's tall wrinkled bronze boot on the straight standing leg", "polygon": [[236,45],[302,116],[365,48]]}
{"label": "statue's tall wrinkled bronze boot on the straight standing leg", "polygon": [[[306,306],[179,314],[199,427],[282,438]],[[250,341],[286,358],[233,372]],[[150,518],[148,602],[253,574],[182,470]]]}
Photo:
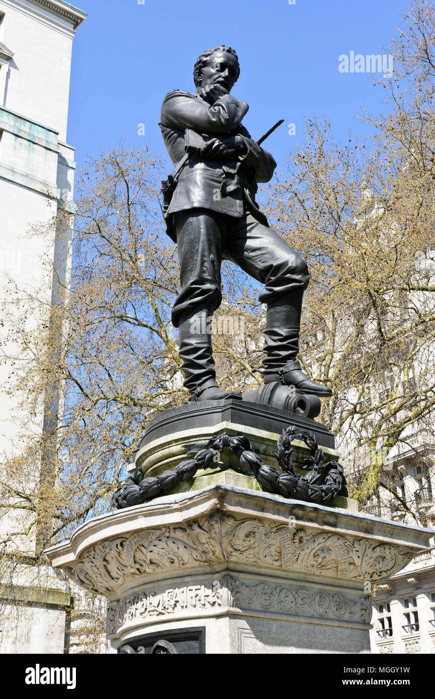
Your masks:
{"label": "statue's tall wrinkled bronze boot on the straight standing leg", "polygon": [[211,308],[202,306],[180,317],[181,370],[185,375],[183,386],[190,391],[189,401],[218,401],[221,398],[240,398],[238,391],[222,391],[216,383],[215,361],[211,346]]}

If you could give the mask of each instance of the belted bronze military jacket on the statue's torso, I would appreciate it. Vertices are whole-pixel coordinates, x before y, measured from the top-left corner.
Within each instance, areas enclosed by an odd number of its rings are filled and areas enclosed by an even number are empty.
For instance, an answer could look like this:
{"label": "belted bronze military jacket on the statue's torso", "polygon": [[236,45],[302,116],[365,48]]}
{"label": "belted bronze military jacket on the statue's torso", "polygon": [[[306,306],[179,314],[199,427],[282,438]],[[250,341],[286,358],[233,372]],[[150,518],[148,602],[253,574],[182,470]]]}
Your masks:
{"label": "belted bronze military jacket on the statue's torso", "polygon": [[205,208],[229,216],[251,212],[267,224],[255,202],[257,182],[269,182],[276,168],[270,153],[263,150],[242,126],[248,105],[226,94],[213,105],[198,94],[174,90],[162,104],[159,127],[174,166],[185,155],[185,131],[201,136],[228,138],[240,135],[245,154],[237,161],[217,163],[191,155],[178,177],[168,215],[192,208]]}

